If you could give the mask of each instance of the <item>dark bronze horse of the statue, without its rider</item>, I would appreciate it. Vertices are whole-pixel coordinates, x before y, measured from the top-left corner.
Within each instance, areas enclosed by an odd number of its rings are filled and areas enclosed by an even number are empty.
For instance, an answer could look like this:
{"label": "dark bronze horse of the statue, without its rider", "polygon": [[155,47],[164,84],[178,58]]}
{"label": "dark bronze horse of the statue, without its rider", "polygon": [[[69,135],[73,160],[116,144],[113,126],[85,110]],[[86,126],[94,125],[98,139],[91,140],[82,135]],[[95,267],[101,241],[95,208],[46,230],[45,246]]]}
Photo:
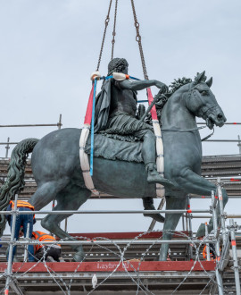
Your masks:
{"label": "dark bronze horse of the statue, without its rider", "polygon": [[[215,184],[201,174],[202,144],[195,117],[201,117],[212,129],[226,122],[220,105],[212,94],[212,78],[206,80],[204,72],[195,80],[176,80],[170,97],[162,108],[162,140],[164,147],[165,178],[174,187],[166,189],[166,209],[178,210],[187,207],[187,194],[211,196]],[[158,103],[156,104],[158,113]],[[160,118],[159,118],[160,119]],[[5,210],[14,194],[24,187],[24,168],[27,156],[32,152],[32,171],[37,182],[37,191],[29,203],[41,210],[53,199],[54,210],[78,210],[90,197],[79,164],[79,136],[81,130],[62,129],[47,134],[43,139],[24,139],[12,151],[9,172],[0,188],[0,210]],[[116,139],[112,139],[116,140]],[[140,142],[129,143],[140,145]],[[147,183],[143,163],[94,158],[93,181],[96,190],[120,198],[150,198],[156,196],[155,184]],[[224,205],[228,195],[222,190]],[[41,225],[60,239],[74,240],[59,224],[70,215],[46,215]],[[181,214],[166,214],[163,225],[163,240],[171,239]],[[5,226],[0,215],[0,235]],[[84,224],[83,224],[84,225]],[[212,231],[212,220],[208,225]],[[84,252],[81,245],[72,246],[74,261],[81,261]],[[169,244],[162,244],[160,260],[166,260]]]}

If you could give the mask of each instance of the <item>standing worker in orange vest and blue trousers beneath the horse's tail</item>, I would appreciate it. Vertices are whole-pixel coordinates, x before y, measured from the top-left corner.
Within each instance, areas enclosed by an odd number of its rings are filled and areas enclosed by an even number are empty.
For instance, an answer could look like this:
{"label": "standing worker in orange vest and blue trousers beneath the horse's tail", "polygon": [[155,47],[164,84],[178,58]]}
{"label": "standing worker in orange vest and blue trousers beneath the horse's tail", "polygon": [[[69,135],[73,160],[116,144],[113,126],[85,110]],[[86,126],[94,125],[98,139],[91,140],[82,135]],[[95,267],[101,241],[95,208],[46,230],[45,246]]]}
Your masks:
{"label": "standing worker in orange vest and blue trousers beneath the horse's tail", "polygon": [[[17,201],[17,208],[19,211],[34,211],[34,206],[32,206],[27,201]],[[14,202],[10,201],[9,206],[6,208],[6,211],[12,211],[14,209]],[[12,231],[12,216],[13,215],[6,215],[7,222],[9,223]],[[16,223],[15,223],[15,232],[14,232],[14,239],[19,240],[21,236],[24,236],[26,238],[27,236],[27,229],[29,224],[29,237],[31,238],[31,232],[33,231],[33,224],[36,223],[35,215],[17,215]],[[22,230],[21,230],[22,227]],[[28,252],[29,252],[29,262],[34,262],[35,259],[33,257],[33,246],[28,246]],[[16,253],[16,246],[13,247],[12,250],[12,260]]]}

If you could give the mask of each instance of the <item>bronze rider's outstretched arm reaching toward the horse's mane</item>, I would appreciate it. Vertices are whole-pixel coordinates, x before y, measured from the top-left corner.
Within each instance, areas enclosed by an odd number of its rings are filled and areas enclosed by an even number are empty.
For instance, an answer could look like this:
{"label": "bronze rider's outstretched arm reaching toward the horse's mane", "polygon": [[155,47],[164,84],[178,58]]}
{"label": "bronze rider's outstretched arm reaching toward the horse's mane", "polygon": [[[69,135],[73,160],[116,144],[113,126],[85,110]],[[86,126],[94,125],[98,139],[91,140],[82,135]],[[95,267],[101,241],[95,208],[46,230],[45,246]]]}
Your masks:
{"label": "bronze rider's outstretched arm reaching toward the horse's mane", "polygon": [[167,86],[158,80],[122,80],[119,82],[121,89],[132,91],[143,90],[150,86],[156,86],[159,89],[167,90]]}

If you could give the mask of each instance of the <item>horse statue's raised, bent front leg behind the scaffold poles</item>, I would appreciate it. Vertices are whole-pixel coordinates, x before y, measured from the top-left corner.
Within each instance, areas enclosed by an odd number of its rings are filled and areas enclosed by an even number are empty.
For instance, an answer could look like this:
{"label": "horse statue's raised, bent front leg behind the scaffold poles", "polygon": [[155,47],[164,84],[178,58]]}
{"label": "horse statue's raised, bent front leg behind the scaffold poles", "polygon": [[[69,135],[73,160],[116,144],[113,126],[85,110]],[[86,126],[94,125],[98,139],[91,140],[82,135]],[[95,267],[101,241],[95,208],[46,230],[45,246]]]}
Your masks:
{"label": "horse statue's raised, bent front leg behind the scaffold poles", "polygon": [[[179,184],[179,187],[182,190],[187,191],[188,193],[193,193],[197,195],[211,196],[212,190],[217,194],[217,188],[215,184],[210,181],[207,181],[200,175],[194,173],[190,169],[185,169],[179,172],[179,175],[175,177],[175,181]],[[226,190],[222,189],[222,198],[223,198],[223,207],[227,204],[229,196]],[[217,207],[217,215],[220,215],[220,206]],[[218,219],[219,222],[219,219]],[[212,218],[208,225],[208,232],[212,232],[213,223]],[[202,237],[205,235],[205,226],[204,223],[201,223],[198,231],[197,237]]]}

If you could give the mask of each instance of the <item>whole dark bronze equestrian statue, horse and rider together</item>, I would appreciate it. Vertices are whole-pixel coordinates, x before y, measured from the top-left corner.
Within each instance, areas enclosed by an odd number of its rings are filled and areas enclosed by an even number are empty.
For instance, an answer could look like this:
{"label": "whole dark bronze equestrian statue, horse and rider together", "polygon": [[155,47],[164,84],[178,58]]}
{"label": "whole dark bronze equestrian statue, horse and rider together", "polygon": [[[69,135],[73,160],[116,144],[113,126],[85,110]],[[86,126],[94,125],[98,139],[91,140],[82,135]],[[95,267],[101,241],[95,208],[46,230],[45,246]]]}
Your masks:
{"label": "whole dark bronze equestrian statue, horse and rider together", "polygon": [[[127,63],[122,60],[119,64],[119,60],[114,60],[109,70],[127,72]],[[150,120],[140,123],[135,118],[135,92],[151,85],[160,88],[161,93],[166,90],[165,85],[156,80],[104,82],[102,92],[96,99],[98,133],[95,137],[93,181],[96,190],[120,198],[147,199],[150,207],[153,206],[152,198],[156,196],[155,182],[161,182],[166,188],[166,208],[185,209],[188,193],[208,196],[212,190],[216,190],[212,182],[200,176],[202,144],[195,116],[203,118],[210,129],[214,124],[221,127],[226,118],[210,89],[212,79],[206,80],[204,72],[197,74],[193,81],[185,78],[175,80],[170,91],[165,93],[165,104],[160,94],[156,109],[162,124],[164,146],[165,179],[162,179],[155,173],[155,140],[152,126],[147,125]],[[110,97],[111,103],[108,101]],[[31,165],[37,191],[29,203],[36,210],[41,210],[53,199],[57,201],[54,210],[77,210],[85,203],[91,192],[85,187],[79,164],[80,133],[81,130],[75,128],[62,129],[40,140],[24,139],[14,147],[8,177],[0,188],[0,210],[4,210],[14,194],[23,189],[24,167],[30,152],[33,152]],[[131,136],[134,141],[130,139]],[[222,190],[222,194],[225,205],[228,195],[225,190]],[[67,216],[46,215],[41,224],[59,238],[73,240],[59,227]],[[169,231],[175,230],[180,216],[165,215],[162,239],[171,239]],[[4,215],[0,215],[1,234],[4,225]],[[202,231],[203,226],[200,235]],[[212,220],[209,224],[211,231]],[[84,257],[82,246],[73,246],[72,249],[76,251],[73,259],[80,261]],[[168,249],[168,244],[162,244],[160,260],[166,259]]]}

